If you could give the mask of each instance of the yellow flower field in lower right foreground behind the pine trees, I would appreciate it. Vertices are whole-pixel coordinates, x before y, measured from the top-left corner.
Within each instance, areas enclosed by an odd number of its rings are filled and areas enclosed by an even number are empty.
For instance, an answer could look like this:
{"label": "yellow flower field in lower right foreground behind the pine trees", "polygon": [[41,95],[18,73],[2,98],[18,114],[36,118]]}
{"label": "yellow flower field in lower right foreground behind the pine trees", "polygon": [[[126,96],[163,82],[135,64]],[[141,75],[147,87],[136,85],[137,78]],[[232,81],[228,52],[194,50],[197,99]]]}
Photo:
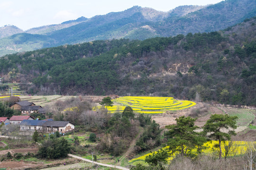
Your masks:
{"label": "yellow flower field in lower right foreground behind the pine trees", "polygon": [[[256,142],[253,142],[253,144],[255,145]],[[205,147],[205,149],[202,149],[202,153],[204,154],[216,154],[218,155],[218,151],[219,151],[219,141],[209,141],[203,144],[203,146]],[[217,146],[217,147],[216,147]],[[248,143],[246,141],[226,141],[226,142],[221,142],[221,149],[222,149],[222,157],[225,157],[225,151],[226,149],[228,150],[229,148],[229,154],[226,156],[238,156],[238,155],[242,155],[245,154],[245,152],[247,151],[247,147],[248,147]],[[255,152],[255,148],[252,147],[254,150],[253,152]],[[168,146],[164,147],[163,149],[168,149]],[[157,152],[159,152],[160,150],[158,150]],[[156,153],[156,152],[155,152]],[[170,151],[169,153],[172,153],[172,151]],[[192,150],[192,153],[196,154],[196,149]],[[140,156],[138,158],[132,159],[129,162],[136,162],[136,161],[144,161],[146,156],[151,155],[153,153],[147,153],[143,156]],[[169,157],[167,159],[167,161],[173,160],[175,157],[175,154],[177,153],[172,153],[172,156]]]}

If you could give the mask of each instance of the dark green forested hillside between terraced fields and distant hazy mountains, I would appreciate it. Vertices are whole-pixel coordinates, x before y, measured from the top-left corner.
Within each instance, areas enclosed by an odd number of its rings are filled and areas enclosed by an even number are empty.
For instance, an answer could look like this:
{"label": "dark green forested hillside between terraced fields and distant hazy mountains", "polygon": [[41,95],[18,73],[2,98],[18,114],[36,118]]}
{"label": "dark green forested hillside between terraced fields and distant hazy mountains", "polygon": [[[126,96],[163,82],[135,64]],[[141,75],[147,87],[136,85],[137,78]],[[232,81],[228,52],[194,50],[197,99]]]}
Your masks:
{"label": "dark green forested hillside between terraced fields and distant hazy mountains", "polygon": [[172,96],[256,105],[256,18],[224,31],[102,40],[4,56],[3,82],[28,93]]}

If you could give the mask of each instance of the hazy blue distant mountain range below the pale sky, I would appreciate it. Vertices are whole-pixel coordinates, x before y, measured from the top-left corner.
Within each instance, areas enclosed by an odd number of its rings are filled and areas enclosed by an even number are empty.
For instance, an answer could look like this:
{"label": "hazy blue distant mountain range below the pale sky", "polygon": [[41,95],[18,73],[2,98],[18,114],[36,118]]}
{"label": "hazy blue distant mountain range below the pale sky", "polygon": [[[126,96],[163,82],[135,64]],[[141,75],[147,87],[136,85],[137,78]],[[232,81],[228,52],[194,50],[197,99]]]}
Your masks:
{"label": "hazy blue distant mountain range below the pale sky", "polygon": [[[4,37],[0,39],[0,56],[94,40],[145,40],[158,36],[219,31],[255,15],[255,0],[225,0],[208,6],[180,6],[168,12],[134,6],[121,12],[80,17],[59,25],[42,26]],[[37,36],[37,39],[31,39],[33,36]]]}

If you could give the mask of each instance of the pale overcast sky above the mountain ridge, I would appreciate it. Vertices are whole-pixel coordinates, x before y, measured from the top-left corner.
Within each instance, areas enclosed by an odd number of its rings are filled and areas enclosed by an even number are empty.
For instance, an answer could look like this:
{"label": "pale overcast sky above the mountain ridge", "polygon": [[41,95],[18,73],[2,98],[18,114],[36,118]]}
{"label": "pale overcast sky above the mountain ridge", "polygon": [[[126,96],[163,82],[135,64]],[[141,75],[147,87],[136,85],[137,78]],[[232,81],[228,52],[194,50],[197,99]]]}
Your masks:
{"label": "pale overcast sky above the mountain ridge", "polygon": [[78,17],[119,12],[133,6],[169,11],[181,5],[215,4],[221,0],[0,0],[0,27],[14,25],[24,31],[60,24]]}

